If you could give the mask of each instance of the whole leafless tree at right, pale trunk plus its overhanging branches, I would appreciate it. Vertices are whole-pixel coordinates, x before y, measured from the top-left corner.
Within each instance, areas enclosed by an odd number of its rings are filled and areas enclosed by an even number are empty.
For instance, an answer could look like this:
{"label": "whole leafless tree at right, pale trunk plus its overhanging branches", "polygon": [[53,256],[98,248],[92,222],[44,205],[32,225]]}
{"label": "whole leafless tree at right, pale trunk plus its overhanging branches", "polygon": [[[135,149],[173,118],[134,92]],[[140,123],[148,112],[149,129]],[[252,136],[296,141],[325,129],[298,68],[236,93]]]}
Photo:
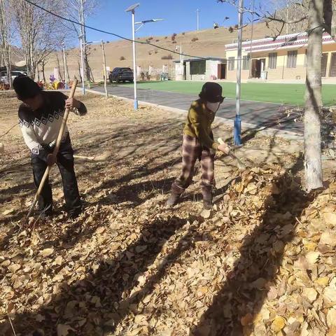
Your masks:
{"label": "whole leafless tree at right, pale trunk plus its overhanging branches", "polygon": [[[237,0],[218,0],[218,2],[231,3],[238,6]],[[264,3],[264,2],[263,2]],[[308,50],[307,50],[307,77],[304,110],[304,184],[307,191],[323,186],[322,160],[321,160],[321,59],[323,31],[332,34],[332,13],[335,0],[304,0],[296,1],[293,6],[300,8],[295,19],[284,18],[274,8],[268,5],[259,8],[244,8],[245,13],[253,13],[265,22],[279,22],[277,34],[283,32],[288,24],[307,22]],[[274,4],[273,4],[274,5]]]}

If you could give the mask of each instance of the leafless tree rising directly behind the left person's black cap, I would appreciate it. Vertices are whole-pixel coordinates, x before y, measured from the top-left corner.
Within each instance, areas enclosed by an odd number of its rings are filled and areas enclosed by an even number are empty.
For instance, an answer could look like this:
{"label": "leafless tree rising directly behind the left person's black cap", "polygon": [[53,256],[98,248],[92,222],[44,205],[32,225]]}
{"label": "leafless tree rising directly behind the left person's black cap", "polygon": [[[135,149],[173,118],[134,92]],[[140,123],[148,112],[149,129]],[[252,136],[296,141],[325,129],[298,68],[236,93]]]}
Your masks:
{"label": "leafless tree rising directly behind the left person's black cap", "polygon": [[[10,4],[25,55],[27,74],[34,79],[37,65],[41,64],[57,45],[62,44],[64,29],[57,18],[45,15],[42,10],[24,0],[11,0]],[[40,0],[38,4],[59,13],[62,1]]]}

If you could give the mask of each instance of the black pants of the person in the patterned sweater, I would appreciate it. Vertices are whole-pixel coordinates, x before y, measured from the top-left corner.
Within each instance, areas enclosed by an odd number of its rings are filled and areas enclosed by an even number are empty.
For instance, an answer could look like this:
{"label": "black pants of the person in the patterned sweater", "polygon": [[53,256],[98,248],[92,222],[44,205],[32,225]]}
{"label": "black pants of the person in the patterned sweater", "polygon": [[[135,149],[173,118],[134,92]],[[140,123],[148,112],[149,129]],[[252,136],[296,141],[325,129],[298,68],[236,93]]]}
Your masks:
{"label": "black pants of the person in the patterned sweater", "polygon": [[[34,183],[36,188],[40,185],[47,163],[37,155],[31,155],[31,165],[33,166]],[[82,203],[78,192],[76,174],[73,169],[73,149],[69,135],[59,146],[57,154],[57,166],[62,176],[63,191],[65,198],[66,211],[72,216],[80,214]],[[41,195],[38,200],[38,209],[45,211],[45,214],[52,214],[52,190],[49,179],[45,181]]]}

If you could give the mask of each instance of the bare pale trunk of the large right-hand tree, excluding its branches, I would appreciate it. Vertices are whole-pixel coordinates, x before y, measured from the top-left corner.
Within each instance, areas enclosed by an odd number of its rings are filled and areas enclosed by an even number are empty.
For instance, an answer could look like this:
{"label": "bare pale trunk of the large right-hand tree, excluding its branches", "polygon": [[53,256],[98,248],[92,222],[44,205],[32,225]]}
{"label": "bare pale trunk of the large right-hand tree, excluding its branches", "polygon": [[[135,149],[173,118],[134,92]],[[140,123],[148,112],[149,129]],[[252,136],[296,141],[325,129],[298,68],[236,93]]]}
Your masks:
{"label": "bare pale trunk of the large right-hand tree, excluding its branches", "polygon": [[320,119],[323,24],[323,0],[310,0],[304,111],[304,177],[307,191],[323,186]]}

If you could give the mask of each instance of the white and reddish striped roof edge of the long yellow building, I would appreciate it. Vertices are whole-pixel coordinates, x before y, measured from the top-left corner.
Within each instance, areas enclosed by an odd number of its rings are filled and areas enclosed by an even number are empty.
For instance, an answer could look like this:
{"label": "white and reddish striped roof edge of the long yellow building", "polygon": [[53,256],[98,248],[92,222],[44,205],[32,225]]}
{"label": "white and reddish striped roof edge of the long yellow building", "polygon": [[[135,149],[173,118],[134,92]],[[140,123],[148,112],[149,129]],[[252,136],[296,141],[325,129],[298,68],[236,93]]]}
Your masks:
{"label": "white and reddish striped roof edge of the long yellow building", "polygon": [[[275,40],[272,37],[261,38],[258,40],[244,41],[242,48],[246,52],[258,52],[258,51],[272,51],[278,49],[299,49],[307,47],[308,34],[302,32],[298,34],[288,34],[278,36]],[[328,33],[323,33],[323,44],[336,43]],[[225,50],[237,50],[238,43],[230,43],[225,45]]]}

